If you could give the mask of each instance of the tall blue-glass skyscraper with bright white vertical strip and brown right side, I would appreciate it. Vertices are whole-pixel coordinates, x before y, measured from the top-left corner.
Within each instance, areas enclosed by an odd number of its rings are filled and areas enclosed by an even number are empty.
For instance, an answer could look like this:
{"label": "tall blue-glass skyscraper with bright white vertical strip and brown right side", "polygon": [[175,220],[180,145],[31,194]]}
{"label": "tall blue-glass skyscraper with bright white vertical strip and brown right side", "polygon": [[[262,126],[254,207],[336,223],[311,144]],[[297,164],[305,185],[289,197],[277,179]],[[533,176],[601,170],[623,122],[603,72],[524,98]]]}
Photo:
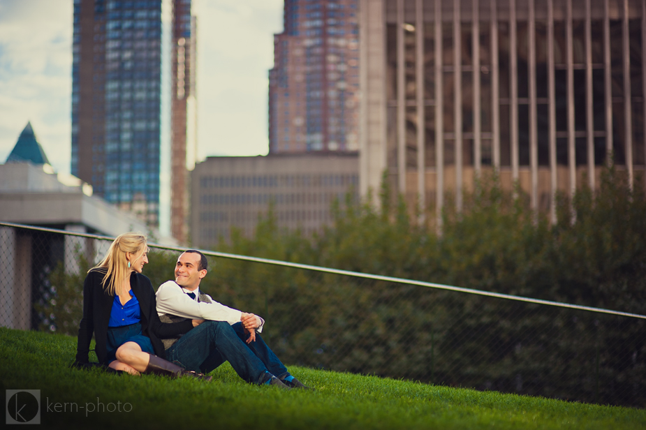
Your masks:
{"label": "tall blue-glass skyscraper with bright white vertical strip and brown right side", "polygon": [[[193,94],[190,9],[190,0],[74,0],[71,172],[153,226],[168,211],[170,159],[182,144],[186,152],[186,108],[171,112]],[[186,177],[183,159],[173,182]]]}

